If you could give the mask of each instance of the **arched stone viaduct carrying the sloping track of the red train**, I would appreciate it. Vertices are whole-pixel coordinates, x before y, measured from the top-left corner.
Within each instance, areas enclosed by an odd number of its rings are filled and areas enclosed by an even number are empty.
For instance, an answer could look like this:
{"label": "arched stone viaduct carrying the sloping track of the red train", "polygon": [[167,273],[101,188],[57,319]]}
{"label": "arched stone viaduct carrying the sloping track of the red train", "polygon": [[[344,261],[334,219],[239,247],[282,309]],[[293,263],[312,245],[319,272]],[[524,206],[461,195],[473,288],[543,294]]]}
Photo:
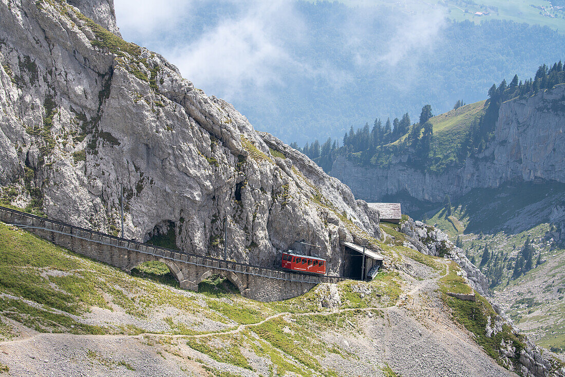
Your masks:
{"label": "arched stone viaduct carrying the sloping track of the red train", "polygon": [[233,282],[244,297],[258,301],[279,301],[306,293],[321,282],[345,279],[292,273],[165,249],[1,206],[0,221],[29,230],[55,245],[127,272],[151,260],[163,262],[183,289],[198,290],[199,282],[218,274]]}

